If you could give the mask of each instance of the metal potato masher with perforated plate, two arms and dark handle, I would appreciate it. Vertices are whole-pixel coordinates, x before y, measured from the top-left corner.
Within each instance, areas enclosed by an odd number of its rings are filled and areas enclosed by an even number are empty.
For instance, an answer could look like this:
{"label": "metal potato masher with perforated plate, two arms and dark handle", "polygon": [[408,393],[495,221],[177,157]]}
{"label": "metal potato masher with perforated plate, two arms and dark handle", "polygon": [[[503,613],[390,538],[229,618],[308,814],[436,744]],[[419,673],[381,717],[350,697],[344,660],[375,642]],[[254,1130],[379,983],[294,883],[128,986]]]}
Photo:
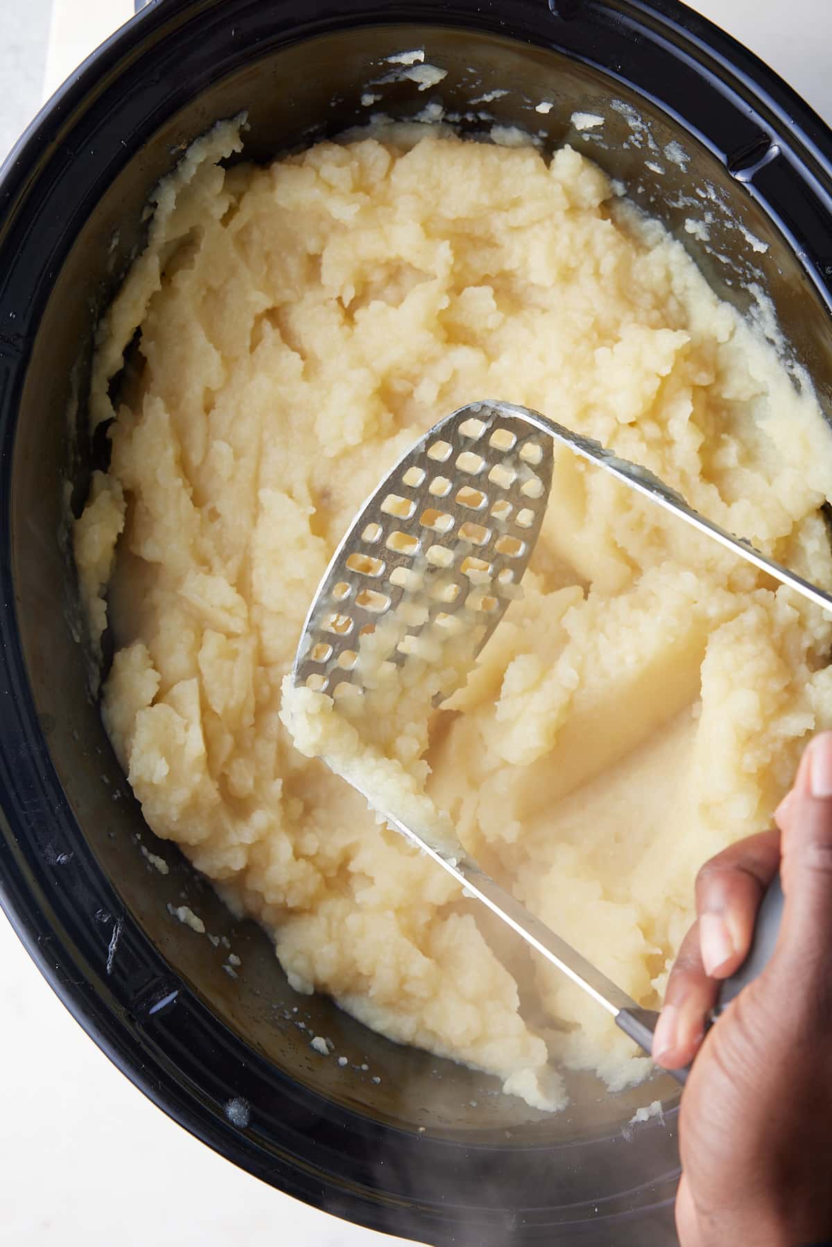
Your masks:
{"label": "metal potato masher with perforated plate, two arms and dark handle", "polygon": [[[815,605],[832,610],[832,596],[705,519],[646,469],[619,459],[600,443],[538,412],[481,402],[434,425],[397,463],[358,514],[309,609],[292,671],[294,685],[334,698],[339,686],[360,691],[362,667],[356,661],[359,638],[397,614],[404,616],[404,622],[397,633],[398,643],[390,648],[393,662],[404,662],[414,638],[455,615],[475,630],[473,662],[516,594],[540,534],[551,489],[554,441],[599,464]],[[414,601],[419,609],[408,621],[404,606]],[[640,1008],[485,874],[462,847],[455,854],[429,843],[394,809],[385,808],[378,794],[364,791],[354,777],[349,782],[387,823],[452,874],[467,895],[486,905],[651,1052],[657,1013]],[[717,1014],[763,968],[773,950],[781,909],[782,892],[776,879],[761,907],[755,945],[745,965],[722,984]],[[684,1082],[687,1070],[672,1074]]]}

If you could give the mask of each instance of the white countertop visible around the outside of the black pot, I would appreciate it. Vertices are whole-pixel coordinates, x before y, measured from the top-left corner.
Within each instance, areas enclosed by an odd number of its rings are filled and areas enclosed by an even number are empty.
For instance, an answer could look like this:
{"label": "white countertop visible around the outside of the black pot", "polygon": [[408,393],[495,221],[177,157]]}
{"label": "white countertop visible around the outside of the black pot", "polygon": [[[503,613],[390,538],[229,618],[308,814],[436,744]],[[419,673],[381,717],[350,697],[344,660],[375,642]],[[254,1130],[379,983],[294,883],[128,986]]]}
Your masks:
{"label": "white countertop visible around the outside of the black pot", "polygon": [[[832,117],[830,0],[696,0]],[[0,158],[131,0],[1,0]],[[51,29],[51,40],[49,37]],[[9,1247],[394,1247],[235,1168],[84,1035],[0,914],[2,1210]]]}

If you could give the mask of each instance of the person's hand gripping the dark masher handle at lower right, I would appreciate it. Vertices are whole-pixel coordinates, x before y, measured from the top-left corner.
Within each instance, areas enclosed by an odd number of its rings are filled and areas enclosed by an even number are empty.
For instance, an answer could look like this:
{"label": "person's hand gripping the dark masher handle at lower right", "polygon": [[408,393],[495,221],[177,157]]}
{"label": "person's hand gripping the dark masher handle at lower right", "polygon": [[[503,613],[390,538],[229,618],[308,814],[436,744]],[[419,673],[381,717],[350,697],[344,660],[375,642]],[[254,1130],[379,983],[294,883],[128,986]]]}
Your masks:
{"label": "person's hand gripping the dark masher handle at lower right", "polygon": [[[700,870],[699,918],[656,1026],[660,1065],[696,1055],[680,1114],[681,1247],[832,1237],[832,733],[803,752],[776,821]],[[705,1035],[718,980],[745,960],[778,868],[775,953]]]}

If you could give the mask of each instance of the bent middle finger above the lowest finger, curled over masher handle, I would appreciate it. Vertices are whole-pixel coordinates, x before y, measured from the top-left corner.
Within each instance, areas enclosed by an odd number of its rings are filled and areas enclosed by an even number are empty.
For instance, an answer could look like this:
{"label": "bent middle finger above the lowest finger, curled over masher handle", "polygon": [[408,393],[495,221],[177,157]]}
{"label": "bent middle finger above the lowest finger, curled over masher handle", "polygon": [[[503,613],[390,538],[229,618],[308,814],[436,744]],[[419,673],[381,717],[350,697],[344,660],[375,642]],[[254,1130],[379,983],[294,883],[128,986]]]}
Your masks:
{"label": "bent middle finger above the lowest finger, curled over masher handle", "polygon": [[740,840],[706,862],[696,878],[702,964],[727,979],[748,955],[757,910],[780,867],[780,832]]}

